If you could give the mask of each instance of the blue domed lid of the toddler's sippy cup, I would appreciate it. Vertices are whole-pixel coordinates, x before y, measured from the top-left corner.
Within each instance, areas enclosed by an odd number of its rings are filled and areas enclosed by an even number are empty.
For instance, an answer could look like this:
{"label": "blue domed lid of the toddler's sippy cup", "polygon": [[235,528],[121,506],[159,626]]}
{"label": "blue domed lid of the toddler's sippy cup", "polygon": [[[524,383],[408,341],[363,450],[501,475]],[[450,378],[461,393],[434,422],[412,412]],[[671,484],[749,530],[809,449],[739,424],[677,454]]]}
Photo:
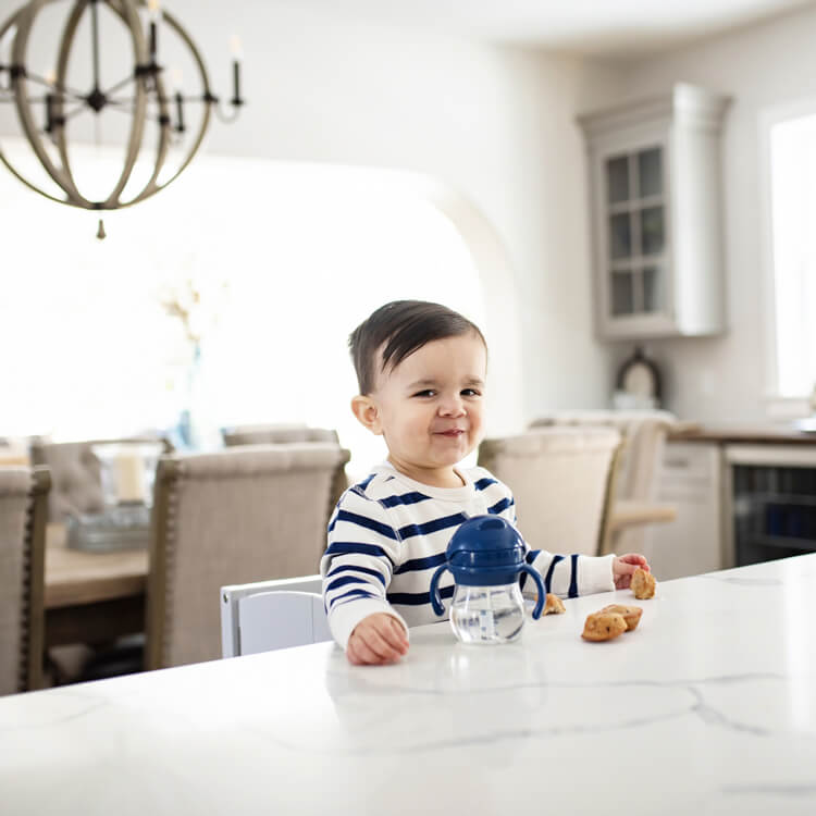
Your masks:
{"label": "blue domed lid of the toddler's sippy cup", "polygon": [[454,533],[445,552],[456,583],[495,586],[515,583],[524,567],[524,541],[500,516],[473,516]]}

